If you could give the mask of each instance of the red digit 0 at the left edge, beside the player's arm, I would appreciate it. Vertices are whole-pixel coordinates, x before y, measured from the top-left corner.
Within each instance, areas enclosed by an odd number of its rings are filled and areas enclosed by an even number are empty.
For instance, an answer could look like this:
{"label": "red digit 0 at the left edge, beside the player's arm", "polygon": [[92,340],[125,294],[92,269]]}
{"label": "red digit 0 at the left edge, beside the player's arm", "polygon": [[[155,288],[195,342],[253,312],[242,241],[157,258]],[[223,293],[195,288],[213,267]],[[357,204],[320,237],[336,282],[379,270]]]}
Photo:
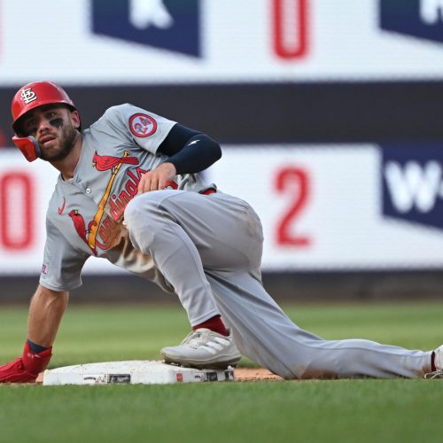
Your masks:
{"label": "red digit 0 at the left edge, beside the player's arm", "polygon": [[0,176],[0,240],[10,251],[26,250],[34,239],[34,186],[23,172]]}

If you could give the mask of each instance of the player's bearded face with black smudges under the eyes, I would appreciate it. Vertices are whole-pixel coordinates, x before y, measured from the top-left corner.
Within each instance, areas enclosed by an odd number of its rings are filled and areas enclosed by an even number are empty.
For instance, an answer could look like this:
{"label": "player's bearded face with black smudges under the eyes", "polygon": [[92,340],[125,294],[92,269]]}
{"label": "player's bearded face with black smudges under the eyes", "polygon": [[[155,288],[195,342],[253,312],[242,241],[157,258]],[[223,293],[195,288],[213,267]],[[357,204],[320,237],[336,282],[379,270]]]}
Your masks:
{"label": "player's bearded face with black smudges under the eyes", "polygon": [[43,105],[27,113],[21,128],[27,136],[34,136],[43,160],[65,159],[74,148],[80,118],[76,111],[64,105]]}

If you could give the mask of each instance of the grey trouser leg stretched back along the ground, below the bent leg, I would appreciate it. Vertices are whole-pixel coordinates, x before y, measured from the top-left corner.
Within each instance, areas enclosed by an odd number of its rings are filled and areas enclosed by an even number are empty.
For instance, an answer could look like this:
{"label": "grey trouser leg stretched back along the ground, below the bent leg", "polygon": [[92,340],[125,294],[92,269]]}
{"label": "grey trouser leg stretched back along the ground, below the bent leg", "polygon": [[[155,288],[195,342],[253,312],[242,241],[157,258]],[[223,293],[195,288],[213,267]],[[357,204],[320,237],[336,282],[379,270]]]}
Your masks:
{"label": "grey trouser leg stretched back along the ground, below the bent leg", "polygon": [[431,353],[361,340],[324,340],[300,329],[256,278],[206,273],[240,352],[284,378],[420,377]]}

